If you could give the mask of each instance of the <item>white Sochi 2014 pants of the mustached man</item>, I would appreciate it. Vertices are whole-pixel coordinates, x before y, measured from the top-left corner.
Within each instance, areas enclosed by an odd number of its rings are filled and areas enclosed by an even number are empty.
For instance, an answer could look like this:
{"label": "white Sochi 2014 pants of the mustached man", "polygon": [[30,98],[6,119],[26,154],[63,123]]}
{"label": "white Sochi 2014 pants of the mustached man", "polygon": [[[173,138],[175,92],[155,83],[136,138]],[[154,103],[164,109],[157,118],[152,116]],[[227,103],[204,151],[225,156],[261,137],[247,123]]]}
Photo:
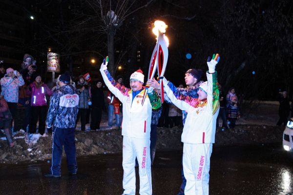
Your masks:
{"label": "white Sochi 2014 pants of the mustached man", "polygon": [[126,195],[135,195],[135,157],[139,164],[139,194],[152,194],[149,144],[149,138],[123,137],[123,188]]}

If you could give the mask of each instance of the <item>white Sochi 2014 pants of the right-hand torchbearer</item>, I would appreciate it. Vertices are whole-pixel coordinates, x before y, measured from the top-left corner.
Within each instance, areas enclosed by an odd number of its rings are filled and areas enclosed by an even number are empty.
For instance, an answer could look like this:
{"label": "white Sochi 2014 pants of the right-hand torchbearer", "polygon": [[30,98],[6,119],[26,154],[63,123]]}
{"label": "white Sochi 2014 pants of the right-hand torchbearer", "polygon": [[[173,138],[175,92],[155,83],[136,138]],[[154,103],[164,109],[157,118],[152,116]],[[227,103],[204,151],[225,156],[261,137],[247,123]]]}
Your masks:
{"label": "white Sochi 2014 pants of the right-hand torchbearer", "polygon": [[183,171],[187,180],[185,195],[209,195],[209,159],[212,143],[183,146]]}

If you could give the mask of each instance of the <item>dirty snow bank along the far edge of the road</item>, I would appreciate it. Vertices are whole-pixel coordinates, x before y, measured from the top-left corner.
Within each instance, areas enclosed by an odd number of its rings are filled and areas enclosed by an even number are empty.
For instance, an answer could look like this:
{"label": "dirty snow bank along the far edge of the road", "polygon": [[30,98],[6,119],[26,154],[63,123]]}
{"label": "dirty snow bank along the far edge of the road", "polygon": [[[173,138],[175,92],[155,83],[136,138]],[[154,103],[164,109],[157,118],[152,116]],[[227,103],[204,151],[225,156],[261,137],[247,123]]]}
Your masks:
{"label": "dirty snow bank along the far edge of the road", "polygon": [[[284,127],[267,125],[238,125],[235,129],[216,132],[217,145],[255,144],[267,142],[282,142]],[[178,151],[183,149],[181,143],[182,128],[158,128],[157,150]],[[24,137],[19,132],[16,137]],[[76,131],[77,156],[92,156],[97,154],[122,153],[122,136],[120,129],[105,131]],[[24,138],[16,139],[14,148],[9,148],[4,140],[0,140],[0,163],[19,163],[21,161],[37,161],[51,158],[52,137],[36,134],[32,143]],[[64,156],[64,152],[63,152]]]}

